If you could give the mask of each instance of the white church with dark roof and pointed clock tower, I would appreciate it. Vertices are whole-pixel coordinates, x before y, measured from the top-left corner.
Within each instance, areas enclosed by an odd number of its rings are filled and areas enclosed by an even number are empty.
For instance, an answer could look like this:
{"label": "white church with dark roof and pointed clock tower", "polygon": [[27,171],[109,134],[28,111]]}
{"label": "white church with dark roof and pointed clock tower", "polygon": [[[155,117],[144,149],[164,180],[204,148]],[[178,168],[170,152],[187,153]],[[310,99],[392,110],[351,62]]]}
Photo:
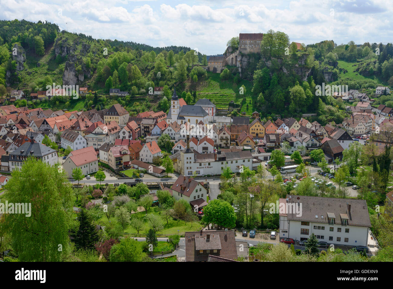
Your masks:
{"label": "white church with dark roof and pointed clock tower", "polygon": [[171,124],[176,121],[178,124],[198,124],[202,121],[208,123],[209,113],[199,105],[180,106],[179,97],[176,95],[176,87],[173,90],[171,105],[167,115],[167,123]]}

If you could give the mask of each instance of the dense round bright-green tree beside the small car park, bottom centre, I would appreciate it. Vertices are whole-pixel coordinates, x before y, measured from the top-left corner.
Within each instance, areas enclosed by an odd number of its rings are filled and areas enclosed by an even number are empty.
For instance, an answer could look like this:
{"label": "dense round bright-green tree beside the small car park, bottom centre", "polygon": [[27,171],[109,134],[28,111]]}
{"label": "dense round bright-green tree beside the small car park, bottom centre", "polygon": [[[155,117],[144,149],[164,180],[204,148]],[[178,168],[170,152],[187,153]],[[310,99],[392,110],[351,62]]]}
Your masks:
{"label": "dense round bright-green tree beside the small car park, bottom centre", "polygon": [[230,203],[214,199],[203,208],[204,216],[202,220],[205,223],[217,224],[226,228],[235,227],[236,215]]}

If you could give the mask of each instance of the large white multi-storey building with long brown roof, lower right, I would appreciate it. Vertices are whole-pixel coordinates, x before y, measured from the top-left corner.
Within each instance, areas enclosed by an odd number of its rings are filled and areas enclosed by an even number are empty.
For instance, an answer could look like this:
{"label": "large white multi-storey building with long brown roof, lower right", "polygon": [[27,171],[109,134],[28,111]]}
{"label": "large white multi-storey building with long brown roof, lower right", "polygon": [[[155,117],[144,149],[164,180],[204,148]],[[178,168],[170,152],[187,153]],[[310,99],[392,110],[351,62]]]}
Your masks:
{"label": "large white multi-storey building with long brown roof, lower right", "polygon": [[280,238],[302,241],[314,233],[328,244],[367,246],[371,222],[365,200],[287,195],[278,205]]}

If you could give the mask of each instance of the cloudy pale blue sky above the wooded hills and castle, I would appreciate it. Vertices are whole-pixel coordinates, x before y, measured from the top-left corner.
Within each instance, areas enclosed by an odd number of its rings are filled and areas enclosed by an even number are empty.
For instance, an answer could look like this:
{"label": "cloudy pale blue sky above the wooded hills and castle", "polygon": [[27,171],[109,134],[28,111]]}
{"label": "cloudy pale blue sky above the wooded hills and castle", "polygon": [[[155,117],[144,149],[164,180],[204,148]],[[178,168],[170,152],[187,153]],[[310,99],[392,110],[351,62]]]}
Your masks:
{"label": "cloudy pale blue sky above the wooded hills and castle", "polygon": [[[389,4],[390,2],[390,4]],[[239,33],[285,32],[290,42],[393,42],[392,0],[0,0],[0,20],[47,20],[69,32],[154,47],[224,53]]]}

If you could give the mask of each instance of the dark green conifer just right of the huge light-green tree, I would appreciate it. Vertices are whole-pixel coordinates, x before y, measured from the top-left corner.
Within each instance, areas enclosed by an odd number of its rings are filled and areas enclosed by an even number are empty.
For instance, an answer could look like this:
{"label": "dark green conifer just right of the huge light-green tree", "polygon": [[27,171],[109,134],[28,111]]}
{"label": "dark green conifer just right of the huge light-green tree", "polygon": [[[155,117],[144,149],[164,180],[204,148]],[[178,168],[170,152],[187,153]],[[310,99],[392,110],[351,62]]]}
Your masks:
{"label": "dark green conifer just right of the huge light-green tree", "polygon": [[82,209],[78,216],[79,228],[76,232],[72,232],[73,242],[78,249],[94,249],[95,243],[98,241],[97,230],[92,224],[90,216],[85,209]]}

